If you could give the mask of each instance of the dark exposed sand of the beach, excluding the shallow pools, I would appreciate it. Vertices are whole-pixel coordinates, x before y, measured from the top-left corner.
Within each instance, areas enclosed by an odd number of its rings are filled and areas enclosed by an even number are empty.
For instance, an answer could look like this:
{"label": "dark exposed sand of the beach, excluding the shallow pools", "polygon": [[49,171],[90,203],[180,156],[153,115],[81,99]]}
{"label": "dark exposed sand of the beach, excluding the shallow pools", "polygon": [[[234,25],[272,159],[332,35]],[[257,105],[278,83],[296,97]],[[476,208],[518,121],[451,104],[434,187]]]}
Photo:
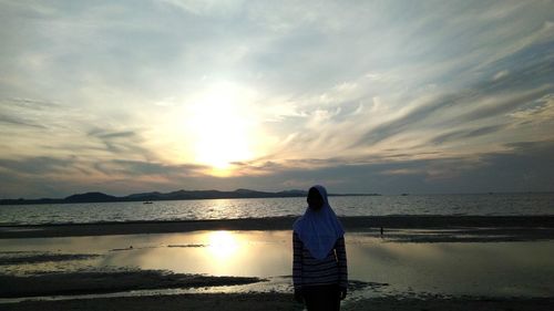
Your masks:
{"label": "dark exposed sand of the beach, excluding the shallow pools", "polygon": [[[82,225],[1,226],[0,238],[84,237],[189,232],[196,230],[287,230],[296,217],[203,221],[144,221]],[[379,236],[391,241],[533,241],[554,240],[554,217],[481,216],[386,216],[342,217],[347,231]],[[24,243],[24,240],[21,240]],[[170,246],[168,246],[170,247]],[[174,246],[172,246],[174,247]],[[198,247],[197,245],[186,247]],[[31,255],[13,252],[8,265],[86,259],[95,255]],[[0,266],[1,267],[1,266]],[[32,297],[103,293],[144,289],[202,288],[246,284],[258,278],[209,277],[165,273],[163,271],[76,271],[24,278],[2,276],[1,296]],[[9,287],[6,284],[10,284]],[[352,291],[355,292],[355,290]],[[290,293],[179,293],[170,296],[110,297],[69,300],[27,300],[0,303],[0,310],[302,310]],[[384,296],[347,300],[341,310],[554,310],[552,298],[479,298]]]}

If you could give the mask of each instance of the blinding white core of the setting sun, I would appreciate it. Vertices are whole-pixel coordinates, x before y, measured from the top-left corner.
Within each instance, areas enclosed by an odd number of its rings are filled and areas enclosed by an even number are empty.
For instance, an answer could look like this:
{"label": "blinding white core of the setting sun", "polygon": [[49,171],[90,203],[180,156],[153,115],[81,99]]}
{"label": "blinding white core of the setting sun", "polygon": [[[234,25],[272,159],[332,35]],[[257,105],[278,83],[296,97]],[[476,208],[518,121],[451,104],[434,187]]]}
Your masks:
{"label": "blinding white core of the setting sun", "polygon": [[212,175],[229,175],[234,162],[254,155],[247,95],[230,83],[219,83],[201,93],[188,111],[194,162],[212,167]]}

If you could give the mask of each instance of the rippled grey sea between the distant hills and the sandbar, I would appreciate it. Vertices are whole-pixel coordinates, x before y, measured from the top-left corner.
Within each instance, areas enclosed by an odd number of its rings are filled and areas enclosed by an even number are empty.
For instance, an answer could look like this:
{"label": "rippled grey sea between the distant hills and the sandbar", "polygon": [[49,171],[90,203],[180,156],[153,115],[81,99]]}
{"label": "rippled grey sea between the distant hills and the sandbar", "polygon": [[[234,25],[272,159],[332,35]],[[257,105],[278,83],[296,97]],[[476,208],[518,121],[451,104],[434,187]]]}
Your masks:
{"label": "rippled grey sea between the distant hills and the sandbar", "polygon": [[[332,196],[338,216],[554,215],[554,193]],[[164,200],[0,206],[0,225],[89,224],[299,216],[306,198]]]}

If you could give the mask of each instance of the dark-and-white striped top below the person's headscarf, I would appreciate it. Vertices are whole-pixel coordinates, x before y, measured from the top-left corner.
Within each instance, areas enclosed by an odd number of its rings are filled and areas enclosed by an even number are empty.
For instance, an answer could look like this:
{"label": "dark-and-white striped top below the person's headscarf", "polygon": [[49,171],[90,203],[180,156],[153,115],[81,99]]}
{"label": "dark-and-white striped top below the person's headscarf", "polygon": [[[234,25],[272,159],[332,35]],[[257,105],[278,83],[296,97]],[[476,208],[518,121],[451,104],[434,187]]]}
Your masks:
{"label": "dark-and-white striped top below the person's headscarf", "polygon": [[293,234],[293,281],[295,290],[309,286],[339,284],[348,287],[345,238],[340,237],[329,255],[321,260],[311,257],[296,232]]}

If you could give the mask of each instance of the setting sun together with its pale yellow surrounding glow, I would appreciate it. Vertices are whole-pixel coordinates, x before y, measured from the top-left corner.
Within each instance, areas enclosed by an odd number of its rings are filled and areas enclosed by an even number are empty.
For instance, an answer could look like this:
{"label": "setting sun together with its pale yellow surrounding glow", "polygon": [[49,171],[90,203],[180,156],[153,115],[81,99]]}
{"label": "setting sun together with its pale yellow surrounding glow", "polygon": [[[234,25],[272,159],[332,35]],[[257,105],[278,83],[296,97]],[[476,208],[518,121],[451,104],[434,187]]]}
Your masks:
{"label": "setting sun together with its pale yellow surrounding glow", "polygon": [[162,158],[199,165],[194,172],[202,175],[250,174],[239,163],[267,155],[279,141],[267,131],[267,107],[260,105],[265,100],[252,86],[211,82],[160,103],[160,114],[145,114],[145,122],[156,124],[146,139],[152,148],[162,151]]}

